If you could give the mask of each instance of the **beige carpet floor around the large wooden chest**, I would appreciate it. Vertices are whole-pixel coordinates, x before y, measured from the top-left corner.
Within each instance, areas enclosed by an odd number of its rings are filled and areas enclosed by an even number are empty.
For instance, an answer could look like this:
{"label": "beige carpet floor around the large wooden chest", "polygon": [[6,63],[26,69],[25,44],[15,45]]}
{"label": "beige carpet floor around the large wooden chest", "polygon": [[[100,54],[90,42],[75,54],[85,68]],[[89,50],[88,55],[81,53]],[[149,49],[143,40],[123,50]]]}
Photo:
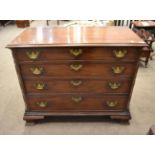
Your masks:
{"label": "beige carpet floor around the large wooden chest", "polygon": [[[56,22],[50,22],[50,26]],[[31,27],[46,26],[46,21],[33,21]],[[16,25],[0,27],[0,134],[147,134],[155,124],[155,60],[148,68],[140,65],[130,103],[130,125],[109,121],[47,121],[25,126],[24,101],[18,83],[11,51],[6,45],[24,29]]]}

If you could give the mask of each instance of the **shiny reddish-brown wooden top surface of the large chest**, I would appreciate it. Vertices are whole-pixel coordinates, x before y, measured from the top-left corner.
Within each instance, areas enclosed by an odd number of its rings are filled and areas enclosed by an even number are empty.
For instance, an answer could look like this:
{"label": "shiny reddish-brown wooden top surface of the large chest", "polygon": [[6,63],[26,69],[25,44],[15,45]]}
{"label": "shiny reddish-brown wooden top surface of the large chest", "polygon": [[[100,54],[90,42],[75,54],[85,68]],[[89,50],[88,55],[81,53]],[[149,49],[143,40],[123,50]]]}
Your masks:
{"label": "shiny reddish-brown wooden top surface of the large chest", "polygon": [[28,28],[7,47],[145,46],[127,27]]}

